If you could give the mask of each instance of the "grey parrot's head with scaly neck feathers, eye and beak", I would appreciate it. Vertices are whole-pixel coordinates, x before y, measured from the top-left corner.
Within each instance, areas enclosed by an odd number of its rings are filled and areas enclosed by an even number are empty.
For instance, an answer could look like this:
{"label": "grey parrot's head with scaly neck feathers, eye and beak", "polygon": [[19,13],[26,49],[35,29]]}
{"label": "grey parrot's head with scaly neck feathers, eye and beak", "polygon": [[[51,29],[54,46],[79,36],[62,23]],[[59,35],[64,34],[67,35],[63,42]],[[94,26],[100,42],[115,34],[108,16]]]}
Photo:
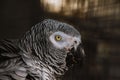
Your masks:
{"label": "grey parrot's head with scaly neck feathers, eye and beak", "polygon": [[83,60],[85,53],[81,44],[81,35],[73,26],[45,19],[21,38],[19,47],[25,59],[49,65],[56,74],[62,75],[68,67]]}

